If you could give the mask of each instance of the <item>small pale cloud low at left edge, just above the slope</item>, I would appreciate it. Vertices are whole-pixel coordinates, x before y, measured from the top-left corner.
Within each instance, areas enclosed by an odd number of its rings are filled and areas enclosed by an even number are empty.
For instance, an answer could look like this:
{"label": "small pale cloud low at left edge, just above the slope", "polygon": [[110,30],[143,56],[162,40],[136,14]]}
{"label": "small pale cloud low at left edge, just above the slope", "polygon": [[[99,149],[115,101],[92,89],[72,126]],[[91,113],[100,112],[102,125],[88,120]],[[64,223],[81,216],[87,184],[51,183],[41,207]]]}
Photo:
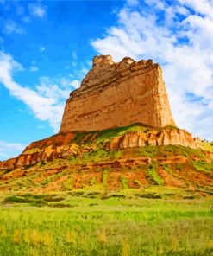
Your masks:
{"label": "small pale cloud low at left edge, just above the slope", "polygon": [[25,145],[17,143],[8,143],[0,140],[0,159],[6,159],[15,156],[24,150]]}

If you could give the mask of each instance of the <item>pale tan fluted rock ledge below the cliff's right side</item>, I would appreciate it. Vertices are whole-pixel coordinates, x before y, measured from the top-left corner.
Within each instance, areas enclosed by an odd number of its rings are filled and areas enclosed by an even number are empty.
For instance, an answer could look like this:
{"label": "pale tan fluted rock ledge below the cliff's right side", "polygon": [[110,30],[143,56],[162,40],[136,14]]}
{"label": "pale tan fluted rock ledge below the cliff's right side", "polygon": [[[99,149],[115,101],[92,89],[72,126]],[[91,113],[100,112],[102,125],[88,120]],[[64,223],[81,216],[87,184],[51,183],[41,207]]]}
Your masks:
{"label": "pale tan fluted rock ledge below the cliff's right side", "polygon": [[146,145],[182,145],[197,149],[197,144],[191,134],[185,130],[151,131],[148,133],[130,131],[121,137],[113,138],[104,145],[105,150],[122,150]]}

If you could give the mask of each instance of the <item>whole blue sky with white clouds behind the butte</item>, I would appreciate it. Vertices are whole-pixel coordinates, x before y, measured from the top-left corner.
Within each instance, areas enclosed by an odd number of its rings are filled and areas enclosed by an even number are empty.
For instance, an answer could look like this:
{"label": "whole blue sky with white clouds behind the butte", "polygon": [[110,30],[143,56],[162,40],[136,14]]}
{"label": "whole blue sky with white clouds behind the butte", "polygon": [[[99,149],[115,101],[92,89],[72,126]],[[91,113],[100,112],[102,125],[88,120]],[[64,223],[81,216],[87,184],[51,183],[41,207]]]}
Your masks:
{"label": "whole blue sky with white clouds behind the butte", "polygon": [[0,161],[59,131],[98,54],[159,62],[176,124],[213,140],[212,0],[0,0]]}

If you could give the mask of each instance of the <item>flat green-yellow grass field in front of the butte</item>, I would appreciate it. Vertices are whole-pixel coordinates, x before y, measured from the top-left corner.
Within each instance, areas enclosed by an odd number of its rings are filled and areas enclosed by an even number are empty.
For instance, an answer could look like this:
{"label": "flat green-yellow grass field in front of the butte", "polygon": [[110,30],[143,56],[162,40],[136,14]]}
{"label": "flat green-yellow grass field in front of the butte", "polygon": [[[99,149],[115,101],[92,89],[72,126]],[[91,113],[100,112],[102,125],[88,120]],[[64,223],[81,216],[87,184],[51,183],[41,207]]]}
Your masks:
{"label": "flat green-yellow grass field in front of the butte", "polygon": [[[213,255],[213,200],[0,195],[0,255]],[[40,206],[40,207],[38,207]]]}

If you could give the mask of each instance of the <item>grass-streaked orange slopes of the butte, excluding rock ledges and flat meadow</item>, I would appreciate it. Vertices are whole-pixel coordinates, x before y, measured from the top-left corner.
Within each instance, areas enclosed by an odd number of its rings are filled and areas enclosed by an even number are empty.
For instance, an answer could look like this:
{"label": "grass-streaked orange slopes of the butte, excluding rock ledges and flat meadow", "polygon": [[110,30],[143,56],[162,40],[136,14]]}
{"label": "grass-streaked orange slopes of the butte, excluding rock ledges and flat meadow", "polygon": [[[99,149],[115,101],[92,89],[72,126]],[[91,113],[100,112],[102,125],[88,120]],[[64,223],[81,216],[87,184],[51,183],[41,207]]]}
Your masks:
{"label": "grass-streaked orange slopes of the butte, excluding rock ledges and flat meadow", "polygon": [[[177,130],[172,126],[164,129]],[[77,189],[85,192],[97,191],[103,195],[114,192],[122,194],[125,190],[136,189],[141,196],[151,196],[147,191],[155,191],[152,192],[154,197],[156,188],[160,190],[163,187],[164,191],[170,188],[180,191],[181,193],[175,192],[172,195],[181,198],[192,194],[198,197],[212,195],[213,161],[210,152],[180,145],[104,149],[107,141],[129,131],[150,132],[156,129],[129,125],[107,131],[76,132],[72,138],[75,153],[16,170],[2,170],[0,189],[36,193]],[[41,150],[51,144],[53,138],[34,144],[24,154]],[[57,148],[64,143],[64,138],[66,134],[60,134],[60,138],[51,147]],[[211,151],[213,146],[208,144],[207,147],[205,143],[205,148]],[[164,196],[160,192],[157,194]]]}

